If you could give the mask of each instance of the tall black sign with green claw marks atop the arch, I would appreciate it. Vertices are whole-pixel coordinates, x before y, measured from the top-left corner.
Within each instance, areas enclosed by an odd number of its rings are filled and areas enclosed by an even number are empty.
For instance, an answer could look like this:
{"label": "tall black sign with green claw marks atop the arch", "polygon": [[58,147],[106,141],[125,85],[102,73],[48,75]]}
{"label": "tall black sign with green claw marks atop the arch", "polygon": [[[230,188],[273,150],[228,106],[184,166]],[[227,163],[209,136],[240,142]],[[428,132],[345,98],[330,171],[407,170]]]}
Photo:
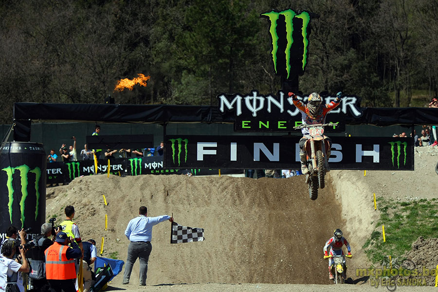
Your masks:
{"label": "tall black sign with green claw marks atop the arch", "polygon": [[270,21],[272,61],[277,75],[291,79],[302,75],[307,65],[310,13],[291,9],[262,13]]}

